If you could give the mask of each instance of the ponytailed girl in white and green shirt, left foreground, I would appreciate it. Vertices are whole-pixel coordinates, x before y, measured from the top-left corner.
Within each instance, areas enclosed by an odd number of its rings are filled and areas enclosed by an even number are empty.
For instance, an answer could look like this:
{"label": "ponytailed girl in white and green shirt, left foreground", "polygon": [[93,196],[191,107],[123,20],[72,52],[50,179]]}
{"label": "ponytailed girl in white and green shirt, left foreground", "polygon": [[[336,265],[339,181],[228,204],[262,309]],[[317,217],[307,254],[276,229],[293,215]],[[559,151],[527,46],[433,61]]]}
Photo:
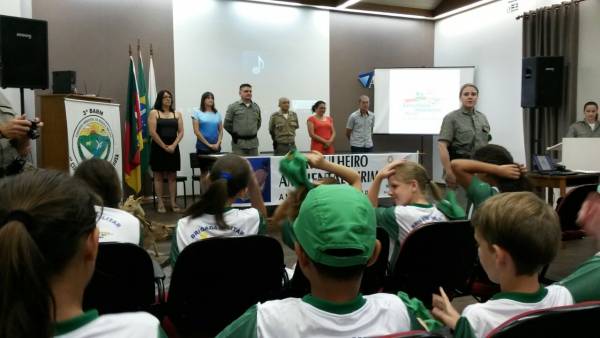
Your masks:
{"label": "ponytailed girl in white and green shirt, left foreground", "polygon": [[0,185],[0,337],[165,337],[148,313],[83,311],[98,253],[84,184],[40,170]]}

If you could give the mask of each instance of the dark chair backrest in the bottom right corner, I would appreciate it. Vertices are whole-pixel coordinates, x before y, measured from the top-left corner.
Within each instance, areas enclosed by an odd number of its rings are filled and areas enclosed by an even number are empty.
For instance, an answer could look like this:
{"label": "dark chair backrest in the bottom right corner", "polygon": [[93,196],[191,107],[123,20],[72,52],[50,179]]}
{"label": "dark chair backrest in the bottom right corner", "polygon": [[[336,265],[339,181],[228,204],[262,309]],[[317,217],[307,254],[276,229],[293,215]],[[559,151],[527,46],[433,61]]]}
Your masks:
{"label": "dark chair backrest in the bottom right corner", "polygon": [[598,337],[598,319],[598,301],[559,306],[515,316],[487,337]]}

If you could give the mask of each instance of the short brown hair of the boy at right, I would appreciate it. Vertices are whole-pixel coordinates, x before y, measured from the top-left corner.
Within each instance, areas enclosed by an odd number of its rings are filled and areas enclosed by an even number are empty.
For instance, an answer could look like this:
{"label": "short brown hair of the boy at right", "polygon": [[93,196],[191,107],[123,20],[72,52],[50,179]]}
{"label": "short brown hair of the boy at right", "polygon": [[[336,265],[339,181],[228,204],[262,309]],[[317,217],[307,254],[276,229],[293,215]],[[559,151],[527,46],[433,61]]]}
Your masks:
{"label": "short brown hair of the boy at right", "polygon": [[471,223],[489,244],[511,255],[517,275],[532,275],[558,252],[561,230],[556,212],[531,192],[502,193],[487,199]]}

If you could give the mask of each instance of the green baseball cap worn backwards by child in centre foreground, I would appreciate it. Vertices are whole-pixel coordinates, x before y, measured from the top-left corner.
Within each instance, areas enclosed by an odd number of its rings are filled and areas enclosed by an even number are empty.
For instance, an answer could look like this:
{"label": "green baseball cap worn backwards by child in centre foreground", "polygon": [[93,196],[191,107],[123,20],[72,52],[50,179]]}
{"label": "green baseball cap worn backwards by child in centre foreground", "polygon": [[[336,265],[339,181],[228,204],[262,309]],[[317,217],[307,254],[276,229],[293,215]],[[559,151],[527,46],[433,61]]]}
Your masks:
{"label": "green baseball cap worn backwards by child in centre foreground", "polygon": [[[293,230],[311,260],[346,267],[367,264],[375,248],[376,224],[365,194],[346,184],[329,184],[306,195]],[[344,255],[336,254],[342,249]]]}

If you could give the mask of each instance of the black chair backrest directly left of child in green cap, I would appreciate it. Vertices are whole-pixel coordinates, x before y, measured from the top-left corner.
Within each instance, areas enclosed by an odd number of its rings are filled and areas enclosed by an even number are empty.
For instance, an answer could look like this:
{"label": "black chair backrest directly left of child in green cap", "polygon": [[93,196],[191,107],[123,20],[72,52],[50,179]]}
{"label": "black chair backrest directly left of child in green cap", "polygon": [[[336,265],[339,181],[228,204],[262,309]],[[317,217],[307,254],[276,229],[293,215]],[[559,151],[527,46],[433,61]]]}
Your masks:
{"label": "black chair backrest directly left of child in green cap", "polygon": [[167,314],[182,337],[214,337],[250,306],[279,294],[284,274],[283,249],[274,238],[195,242],[177,258]]}

